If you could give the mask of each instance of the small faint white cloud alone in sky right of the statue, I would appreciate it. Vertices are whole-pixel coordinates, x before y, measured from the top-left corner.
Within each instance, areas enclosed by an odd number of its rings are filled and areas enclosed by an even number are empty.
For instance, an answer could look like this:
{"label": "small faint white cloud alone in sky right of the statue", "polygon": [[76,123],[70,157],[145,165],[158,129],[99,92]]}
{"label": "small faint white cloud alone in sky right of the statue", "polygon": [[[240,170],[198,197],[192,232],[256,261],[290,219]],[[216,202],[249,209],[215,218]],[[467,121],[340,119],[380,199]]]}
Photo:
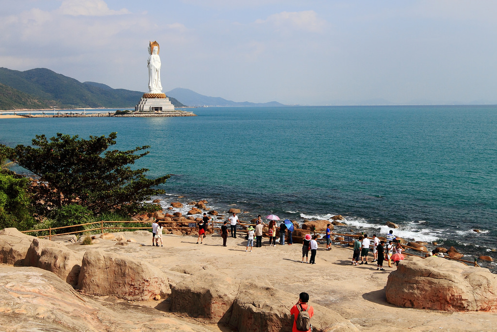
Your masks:
{"label": "small faint white cloud alone in sky right of the statue", "polygon": [[305,11],[282,11],[272,14],[267,19],[258,19],[258,24],[272,24],[278,30],[303,30],[308,32],[322,32],[326,26],[326,21],[318,17],[314,10]]}

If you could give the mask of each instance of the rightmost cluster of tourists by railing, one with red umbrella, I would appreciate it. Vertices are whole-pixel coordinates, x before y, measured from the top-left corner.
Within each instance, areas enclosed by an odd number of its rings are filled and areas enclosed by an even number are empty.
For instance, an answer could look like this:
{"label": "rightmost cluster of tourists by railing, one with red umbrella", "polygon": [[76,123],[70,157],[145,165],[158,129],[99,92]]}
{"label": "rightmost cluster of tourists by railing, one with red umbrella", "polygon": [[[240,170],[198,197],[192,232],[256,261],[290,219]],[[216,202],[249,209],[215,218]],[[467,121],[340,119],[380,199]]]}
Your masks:
{"label": "rightmost cluster of tourists by railing, one with red umbrella", "polygon": [[[396,243],[396,244],[394,244]],[[371,241],[367,234],[359,236],[357,240],[354,241],[354,253],[352,256],[352,265],[362,265],[368,263],[368,253],[370,249]],[[385,271],[383,268],[383,262],[388,261],[388,267],[392,267],[392,261],[399,266],[399,262],[405,259],[402,254],[403,247],[401,242],[396,239],[393,235],[393,230],[390,230],[387,234],[387,246],[385,248],[385,241],[380,240],[376,234],[373,234],[373,261],[377,262],[377,270]],[[361,262],[359,263],[359,257]]]}

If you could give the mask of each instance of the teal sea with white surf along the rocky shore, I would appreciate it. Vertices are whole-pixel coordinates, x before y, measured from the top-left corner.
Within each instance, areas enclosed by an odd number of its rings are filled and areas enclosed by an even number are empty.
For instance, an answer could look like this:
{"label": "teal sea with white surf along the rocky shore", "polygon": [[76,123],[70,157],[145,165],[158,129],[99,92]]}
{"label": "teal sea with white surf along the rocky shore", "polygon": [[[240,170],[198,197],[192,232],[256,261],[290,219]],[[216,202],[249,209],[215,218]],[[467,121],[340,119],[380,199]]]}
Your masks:
{"label": "teal sea with white surf along the rocky shore", "polygon": [[171,175],[166,194],[154,197],[164,207],[205,199],[225,215],[241,209],[242,221],[341,215],[346,226],[335,232],[380,236],[391,221],[399,225],[395,235],[430,249],[437,242],[470,261],[497,259],[497,106],[193,111],[198,116],[0,118],[0,143],[115,131],[113,148],[150,146],[133,167],[148,168],[150,177]]}

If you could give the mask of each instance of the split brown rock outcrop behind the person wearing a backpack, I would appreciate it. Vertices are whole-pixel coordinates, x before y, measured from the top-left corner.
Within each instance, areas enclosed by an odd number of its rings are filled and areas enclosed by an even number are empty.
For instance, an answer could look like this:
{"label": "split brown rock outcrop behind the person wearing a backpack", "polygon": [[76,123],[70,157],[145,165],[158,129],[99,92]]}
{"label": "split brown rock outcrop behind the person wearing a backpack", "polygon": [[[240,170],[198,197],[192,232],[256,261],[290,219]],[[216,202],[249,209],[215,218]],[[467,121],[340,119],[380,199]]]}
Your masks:
{"label": "split brown rock outcrop behind the person wearing a backpack", "polygon": [[[171,291],[171,310],[222,323],[239,332],[292,330],[295,295],[268,284],[254,284],[211,271],[192,272]],[[358,331],[337,313],[313,304],[315,332]]]}

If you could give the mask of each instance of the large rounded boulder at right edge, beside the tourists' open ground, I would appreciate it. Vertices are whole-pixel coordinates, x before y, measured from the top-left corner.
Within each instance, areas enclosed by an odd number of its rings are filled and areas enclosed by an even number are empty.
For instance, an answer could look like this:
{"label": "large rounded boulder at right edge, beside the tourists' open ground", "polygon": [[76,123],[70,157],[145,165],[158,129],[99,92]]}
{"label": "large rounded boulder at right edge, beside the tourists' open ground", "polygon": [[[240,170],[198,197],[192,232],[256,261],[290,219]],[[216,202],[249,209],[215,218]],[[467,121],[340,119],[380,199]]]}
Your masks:
{"label": "large rounded boulder at right edge, beside the tourists' open ground", "polygon": [[410,256],[388,276],[391,304],[446,311],[497,310],[497,275],[488,269],[431,256]]}

